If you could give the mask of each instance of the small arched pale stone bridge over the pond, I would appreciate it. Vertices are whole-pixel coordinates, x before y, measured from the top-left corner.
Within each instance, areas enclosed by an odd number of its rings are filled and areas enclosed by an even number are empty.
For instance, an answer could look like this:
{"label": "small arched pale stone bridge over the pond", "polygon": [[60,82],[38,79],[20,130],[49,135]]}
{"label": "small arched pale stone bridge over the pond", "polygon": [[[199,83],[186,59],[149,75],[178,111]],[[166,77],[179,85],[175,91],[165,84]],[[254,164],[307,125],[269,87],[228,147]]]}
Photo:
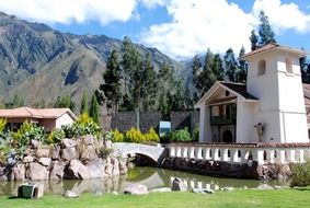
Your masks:
{"label": "small arched pale stone bridge over the pond", "polygon": [[118,150],[124,158],[127,158],[128,154],[140,154],[152,159],[158,164],[161,164],[162,160],[168,155],[165,148],[159,146],[116,142],[113,143],[113,147]]}

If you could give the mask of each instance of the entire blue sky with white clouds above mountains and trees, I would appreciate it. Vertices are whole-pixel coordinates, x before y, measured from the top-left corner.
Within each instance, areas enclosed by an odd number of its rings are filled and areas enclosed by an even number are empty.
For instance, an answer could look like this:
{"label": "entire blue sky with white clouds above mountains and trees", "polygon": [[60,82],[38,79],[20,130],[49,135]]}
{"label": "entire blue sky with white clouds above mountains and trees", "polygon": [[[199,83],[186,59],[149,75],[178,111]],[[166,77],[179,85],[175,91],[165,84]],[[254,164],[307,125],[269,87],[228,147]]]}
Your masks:
{"label": "entire blue sky with white clouds above mountains and trees", "polygon": [[209,47],[249,51],[264,10],[283,45],[310,51],[309,0],[0,0],[0,11],[76,34],[105,34],[191,58]]}

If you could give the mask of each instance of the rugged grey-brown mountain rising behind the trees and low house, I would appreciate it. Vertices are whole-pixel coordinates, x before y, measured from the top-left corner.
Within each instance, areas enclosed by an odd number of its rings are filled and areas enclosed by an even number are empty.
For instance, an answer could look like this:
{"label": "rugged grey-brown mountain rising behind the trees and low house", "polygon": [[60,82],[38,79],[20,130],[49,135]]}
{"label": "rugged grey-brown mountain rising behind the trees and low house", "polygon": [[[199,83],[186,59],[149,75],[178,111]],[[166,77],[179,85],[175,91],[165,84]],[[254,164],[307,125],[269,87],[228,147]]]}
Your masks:
{"label": "rugged grey-brown mountain rising behind the trees and low house", "polygon": [[[120,47],[119,39],[105,35],[60,33],[0,12],[0,100],[18,94],[27,105],[50,106],[70,94],[79,108],[82,93],[90,96],[99,88],[111,51]],[[157,70],[168,61],[182,76],[182,63],[156,48],[137,47],[142,55],[151,53]]]}

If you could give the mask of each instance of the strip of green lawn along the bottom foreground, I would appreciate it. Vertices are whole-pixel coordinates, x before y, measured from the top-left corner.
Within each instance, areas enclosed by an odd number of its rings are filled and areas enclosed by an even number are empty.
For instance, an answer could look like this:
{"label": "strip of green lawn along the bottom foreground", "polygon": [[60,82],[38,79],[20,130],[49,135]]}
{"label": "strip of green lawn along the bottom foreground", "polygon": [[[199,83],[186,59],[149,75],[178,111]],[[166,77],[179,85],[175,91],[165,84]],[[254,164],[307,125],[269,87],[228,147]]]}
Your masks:
{"label": "strip of green lawn along the bottom foreground", "polygon": [[83,194],[79,198],[64,198],[45,195],[41,199],[20,199],[8,196],[0,197],[0,207],[36,208],[36,207],[70,207],[70,208],[243,208],[243,207],[309,207],[310,187],[300,189],[237,189],[217,192],[213,195],[193,193],[150,193],[145,196],[112,195],[102,196]]}

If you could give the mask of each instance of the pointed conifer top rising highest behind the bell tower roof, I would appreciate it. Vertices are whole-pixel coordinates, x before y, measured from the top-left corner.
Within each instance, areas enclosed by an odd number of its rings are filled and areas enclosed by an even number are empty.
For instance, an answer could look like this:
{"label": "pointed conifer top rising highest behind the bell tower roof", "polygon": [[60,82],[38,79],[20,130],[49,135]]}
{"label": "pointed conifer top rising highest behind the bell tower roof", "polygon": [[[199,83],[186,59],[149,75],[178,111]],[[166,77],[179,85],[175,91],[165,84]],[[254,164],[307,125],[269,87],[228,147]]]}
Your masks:
{"label": "pointed conifer top rising highest behind the bell tower roof", "polygon": [[269,24],[268,16],[263,10],[261,10],[259,18],[261,22],[261,24],[259,25],[260,47],[265,46],[267,44],[275,44],[275,34]]}

